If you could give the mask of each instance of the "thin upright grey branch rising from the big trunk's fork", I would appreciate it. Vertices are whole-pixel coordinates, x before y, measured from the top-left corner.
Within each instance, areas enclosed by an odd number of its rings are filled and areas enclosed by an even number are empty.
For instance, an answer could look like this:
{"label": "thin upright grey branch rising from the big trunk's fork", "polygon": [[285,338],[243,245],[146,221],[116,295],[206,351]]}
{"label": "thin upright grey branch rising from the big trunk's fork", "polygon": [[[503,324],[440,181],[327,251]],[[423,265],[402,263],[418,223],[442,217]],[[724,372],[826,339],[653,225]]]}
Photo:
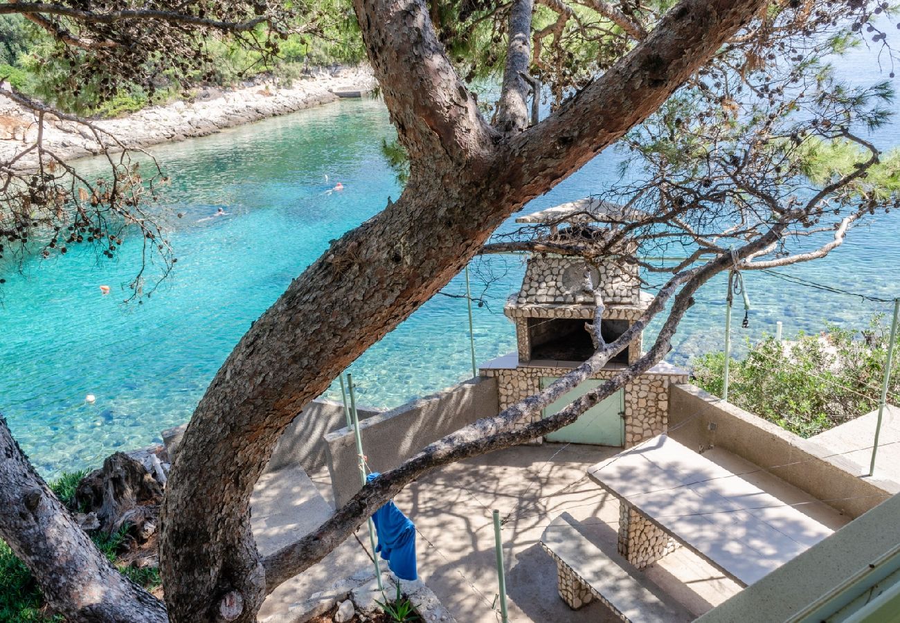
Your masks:
{"label": "thin upright grey branch rising from the big trunk's fork", "polygon": [[522,131],[528,127],[529,84],[523,76],[528,73],[531,62],[533,11],[533,0],[515,0],[509,10],[507,62],[497,104],[497,127],[503,132]]}

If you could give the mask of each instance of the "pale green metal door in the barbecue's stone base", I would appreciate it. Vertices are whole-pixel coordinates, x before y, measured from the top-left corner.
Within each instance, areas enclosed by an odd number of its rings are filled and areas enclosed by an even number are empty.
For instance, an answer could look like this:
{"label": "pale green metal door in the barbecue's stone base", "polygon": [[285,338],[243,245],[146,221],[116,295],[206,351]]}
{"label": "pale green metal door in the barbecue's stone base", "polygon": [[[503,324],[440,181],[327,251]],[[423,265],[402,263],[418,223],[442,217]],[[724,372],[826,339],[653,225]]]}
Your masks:
{"label": "pale green metal door in the barbecue's stone base", "polygon": [[[554,376],[541,377],[541,389],[553,383]],[[550,404],[544,410],[544,417],[554,415],[578,398],[598,387],[603,381],[587,380],[569,393],[564,393],[556,402]],[[603,401],[595,404],[581,417],[569,426],[556,430],[546,437],[547,441],[561,441],[573,444],[593,444],[595,446],[625,445],[625,390],[608,396]]]}

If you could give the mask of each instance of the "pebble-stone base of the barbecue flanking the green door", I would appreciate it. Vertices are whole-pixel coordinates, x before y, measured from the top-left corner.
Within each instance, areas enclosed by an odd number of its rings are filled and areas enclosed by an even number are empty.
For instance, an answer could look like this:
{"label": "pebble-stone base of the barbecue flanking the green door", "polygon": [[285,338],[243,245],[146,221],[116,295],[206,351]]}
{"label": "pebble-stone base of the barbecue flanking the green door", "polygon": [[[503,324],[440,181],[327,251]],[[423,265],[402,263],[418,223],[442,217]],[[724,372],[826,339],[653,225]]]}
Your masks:
{"label": "pebble-stone base of the barbecue flanking the green door", "polygon": [[[518,366],[515,368],[484,368],[482,375],[497,378],[500,410],[506,409],[530,395],[540,392],[541,377],[563,376],[572,371],[571,367]],[[612,378],[619,370],[601,370],[595,379]],[[680,371],[679,371],[680,373]],[[632,447],[644,439],[665,432],[669,426],[669,385],[685,383],[687,375],[671,372],[646,373],[625,386],[625,447]],[[532,421],[518,422],[523,428]]]}

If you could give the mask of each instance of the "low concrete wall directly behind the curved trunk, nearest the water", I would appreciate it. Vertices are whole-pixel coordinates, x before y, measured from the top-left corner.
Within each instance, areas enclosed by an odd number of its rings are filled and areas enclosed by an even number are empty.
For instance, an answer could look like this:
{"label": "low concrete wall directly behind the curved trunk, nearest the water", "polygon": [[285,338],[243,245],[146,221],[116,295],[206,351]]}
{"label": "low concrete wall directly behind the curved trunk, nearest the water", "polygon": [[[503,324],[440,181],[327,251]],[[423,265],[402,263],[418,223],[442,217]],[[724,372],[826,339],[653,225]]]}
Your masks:
{"label": "low concrete wall directly behind the curved trunk, nearest the water", "polygon": [[[383,410],[356,406],[360,420],[371,418]],[[316,472],[326,465],[325,435],[347,426],[344,405],[340,402],[316,400],[302,409],[296,418],[284,429],[275,445],[272,457],[266,465],[266,472],[273,472],[289,465],[302,465],[307,473]],[[163,443],[170,458],[175,458],[178,444],[187,424],[166,429],[162,432]]]}

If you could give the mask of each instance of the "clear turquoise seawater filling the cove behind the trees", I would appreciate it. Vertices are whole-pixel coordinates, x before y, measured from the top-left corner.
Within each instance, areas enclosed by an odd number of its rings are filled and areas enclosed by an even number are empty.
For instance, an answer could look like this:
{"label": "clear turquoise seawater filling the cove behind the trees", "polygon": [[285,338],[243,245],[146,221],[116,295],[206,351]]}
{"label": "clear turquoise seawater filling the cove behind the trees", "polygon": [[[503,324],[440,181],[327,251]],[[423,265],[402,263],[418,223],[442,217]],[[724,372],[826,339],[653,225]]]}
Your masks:
{"label": "clear turquoise seawater filling the cove behind the trees", "polygon": [[[40,471],[95,465],[186,421],[250,322],[330,239],[373,216],[389,195],[398,196],[379,147],[392,135],[382,104],[347,101],[154,149],[174,180],[166,200],[185,217],[173,222],[171,235],[177,270],[142,305],[118,304],[119,285],[135,270],[133,242],[116,262],[97,263],[76,250],[63,260],[26,262],[23,275],[6,274],[0,411]],[[895,122],[878,140],[883,147],[900,143],[900,127]],[[527,212],[598,192],[616,164],[614,152],[602,154]],[[337,181],[343,192],[323,194]],[[219,205],[227,215],[209,218]],[[895,296],[898,262],[900,224],[889,215],[855,230],[825,260],[786,272]],[[479,271],[496,277],[487,304],[474,311],[479,361],[515,348],[502,306],[518,288],[522,266],[517,257],[473,262],[476,295]],[[101,296],[100,284],[110,284],[113,294]],[[818,330],[823,321],[858,323],[885,307],[764,275],[748,275],[747,286],[751,329],[737,329],[738,342],[774,331],[779,320],[787,333]],[[462,275],[446,292],[464,293]],[[723,280],[707,285],[681,325],[672,361],[722,348],[724,294]],[[360,400],[396,406],[468,377],[467,330],[465,302],[436,296],[352,366]],[[653,330],[646,339],[652,337]],[[94,404],[85,403],[87,393],[96,396]]]}

